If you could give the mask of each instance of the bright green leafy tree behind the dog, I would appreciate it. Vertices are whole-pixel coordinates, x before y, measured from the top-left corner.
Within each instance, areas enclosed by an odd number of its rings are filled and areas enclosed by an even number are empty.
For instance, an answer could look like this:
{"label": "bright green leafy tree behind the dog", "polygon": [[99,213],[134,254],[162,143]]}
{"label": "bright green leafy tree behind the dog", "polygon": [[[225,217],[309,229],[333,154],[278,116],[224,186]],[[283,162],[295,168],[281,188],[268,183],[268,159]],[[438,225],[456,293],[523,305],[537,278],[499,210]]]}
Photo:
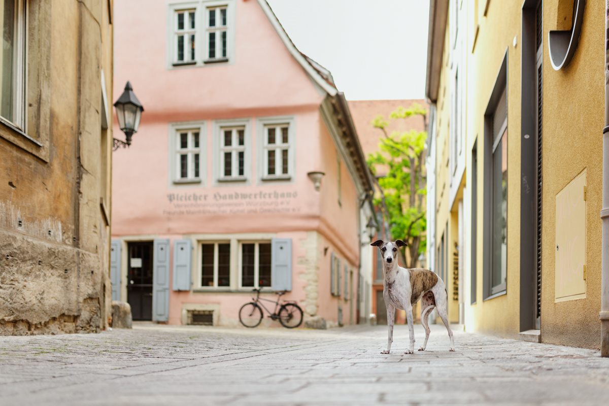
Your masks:
{"label": "bright green leafy tree behind the dog", "polygon": [[[420,116],[427,128],[427,111],[418,103],[399,107],[390,120]],[[403,264],[414,268],[426,249],[426,173],[424,167],[426,131],[391,131],[390,121],[376,116],[372,125],[382,132],[378,151],[368,155],[368,167],[376,180],[375,206],[385,222],[385,238],[404,240],[408,255],[400,250]],[[382,173],[381,176],[377,173]]]}

